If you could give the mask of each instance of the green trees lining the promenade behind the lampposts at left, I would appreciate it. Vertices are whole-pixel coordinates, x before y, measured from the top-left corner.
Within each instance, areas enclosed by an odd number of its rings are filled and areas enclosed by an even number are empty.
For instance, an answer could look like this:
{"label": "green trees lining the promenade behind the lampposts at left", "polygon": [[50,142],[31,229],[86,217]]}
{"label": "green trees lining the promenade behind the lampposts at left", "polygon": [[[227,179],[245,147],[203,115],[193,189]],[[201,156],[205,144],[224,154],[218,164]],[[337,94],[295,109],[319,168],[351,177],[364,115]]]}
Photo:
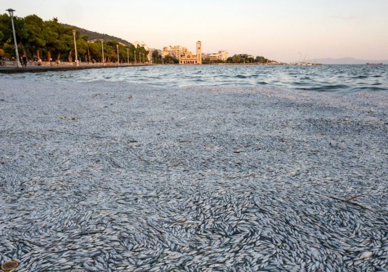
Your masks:
{"label": "green trees lining the promenade behind the lampposts at left", "polygon": [[[29,59],[49,60],[50,58],[73,62],[74,37],[73,27],[62,25],[57,18],[44,21],[37,15],[29,15],[24,18],[14,17],[16,41],[18,50]],[[82,35],[77,30],[76,44],[78,59],[81,61],[102,62],[102,46],[104,49],[104,61],[136,62],[144,61],[148,51],[144,47],[136,48],[133,44],[122,44],[115,40],[89,40],[87,35]],[[8,14],[0,15],[0,54],[6,58],[15,57],[13,31],[11,17]],[[129,56],[129,58],[128,58]]]}

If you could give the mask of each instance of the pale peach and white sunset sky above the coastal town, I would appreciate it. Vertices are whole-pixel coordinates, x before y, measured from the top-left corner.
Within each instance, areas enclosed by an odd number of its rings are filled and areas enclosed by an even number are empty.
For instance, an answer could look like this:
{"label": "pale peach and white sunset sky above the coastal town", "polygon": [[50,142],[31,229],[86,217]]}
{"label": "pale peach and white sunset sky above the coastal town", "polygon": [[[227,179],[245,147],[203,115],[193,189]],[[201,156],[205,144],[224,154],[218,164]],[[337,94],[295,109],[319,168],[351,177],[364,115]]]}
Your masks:
{"label": "pale peach and white sunset sky above the coastal town", "polygon": [[[149,47],[181,45],[231,55],[388,59],[388,0],[1,0],[36,14]],[[6,11],[5,11],[6,12]]]}

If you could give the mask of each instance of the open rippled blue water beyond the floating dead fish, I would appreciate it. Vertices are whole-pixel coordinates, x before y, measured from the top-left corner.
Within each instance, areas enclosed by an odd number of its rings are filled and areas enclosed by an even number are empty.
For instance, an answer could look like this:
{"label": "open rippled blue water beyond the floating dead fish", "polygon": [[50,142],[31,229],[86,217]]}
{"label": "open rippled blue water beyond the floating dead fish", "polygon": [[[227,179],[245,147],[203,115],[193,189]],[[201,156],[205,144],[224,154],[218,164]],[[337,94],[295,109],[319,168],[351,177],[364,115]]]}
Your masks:
{"label": "open rippled blue water beyond the floating dead fish", "polygon": [[322,92],[388,90],[388,65],[156,65],[7,77],[128,81],[169,87],[267,85]]}

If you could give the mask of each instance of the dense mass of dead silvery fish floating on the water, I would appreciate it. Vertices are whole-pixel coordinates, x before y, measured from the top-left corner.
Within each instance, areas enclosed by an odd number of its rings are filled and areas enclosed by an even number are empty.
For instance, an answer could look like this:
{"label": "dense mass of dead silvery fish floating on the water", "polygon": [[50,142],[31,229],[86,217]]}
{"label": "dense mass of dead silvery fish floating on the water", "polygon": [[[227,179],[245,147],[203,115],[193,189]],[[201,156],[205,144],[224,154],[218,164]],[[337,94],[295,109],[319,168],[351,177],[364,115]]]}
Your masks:
{"label": "dense mass of dead silvery fish floating on the water", "polygon": [[388,93],[2,79],[13,271],[388,271]]}

